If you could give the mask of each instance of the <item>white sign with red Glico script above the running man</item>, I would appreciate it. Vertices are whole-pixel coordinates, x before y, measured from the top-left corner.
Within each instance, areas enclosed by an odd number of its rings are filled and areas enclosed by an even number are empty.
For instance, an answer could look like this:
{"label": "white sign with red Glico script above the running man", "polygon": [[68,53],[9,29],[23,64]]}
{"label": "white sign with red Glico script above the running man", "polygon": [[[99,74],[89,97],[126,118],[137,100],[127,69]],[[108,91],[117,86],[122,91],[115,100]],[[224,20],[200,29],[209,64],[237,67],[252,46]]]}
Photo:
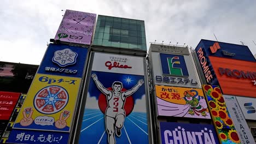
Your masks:
{"label": "white sign with red Glico script above the running man", "polygon": [[110,73],[144,75],[142,57],[95,53],[92,69]]}

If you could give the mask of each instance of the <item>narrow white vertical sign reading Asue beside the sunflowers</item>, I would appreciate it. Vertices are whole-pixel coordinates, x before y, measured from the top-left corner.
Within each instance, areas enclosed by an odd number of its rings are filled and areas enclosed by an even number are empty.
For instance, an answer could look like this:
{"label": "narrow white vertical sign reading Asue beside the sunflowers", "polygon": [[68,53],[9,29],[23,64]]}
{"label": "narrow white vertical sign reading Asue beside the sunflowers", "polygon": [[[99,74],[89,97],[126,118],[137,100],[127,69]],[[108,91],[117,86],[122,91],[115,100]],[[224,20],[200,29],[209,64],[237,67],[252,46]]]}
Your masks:
{"label": "narrow white vertical sign reading Asue beside the sunflowers", "polygon": [[255,143],[251,131],[246,123],[245,117],[237,103],[234,95],[223,95],[230,116],[234,122],[241,143]]}

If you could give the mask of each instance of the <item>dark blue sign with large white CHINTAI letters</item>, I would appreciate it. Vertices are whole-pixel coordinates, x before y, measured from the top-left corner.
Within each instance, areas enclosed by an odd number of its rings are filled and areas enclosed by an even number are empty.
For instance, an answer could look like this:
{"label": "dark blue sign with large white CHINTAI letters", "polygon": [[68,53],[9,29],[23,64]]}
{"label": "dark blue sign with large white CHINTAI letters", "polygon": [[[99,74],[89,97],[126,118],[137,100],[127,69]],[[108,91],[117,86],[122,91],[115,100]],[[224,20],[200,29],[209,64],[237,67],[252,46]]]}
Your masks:
{"label": "dark blue sign with large white CHINTAI letters", "polygon": [[160,130],[162,143],[219,143],[210,124],[160,122]]}

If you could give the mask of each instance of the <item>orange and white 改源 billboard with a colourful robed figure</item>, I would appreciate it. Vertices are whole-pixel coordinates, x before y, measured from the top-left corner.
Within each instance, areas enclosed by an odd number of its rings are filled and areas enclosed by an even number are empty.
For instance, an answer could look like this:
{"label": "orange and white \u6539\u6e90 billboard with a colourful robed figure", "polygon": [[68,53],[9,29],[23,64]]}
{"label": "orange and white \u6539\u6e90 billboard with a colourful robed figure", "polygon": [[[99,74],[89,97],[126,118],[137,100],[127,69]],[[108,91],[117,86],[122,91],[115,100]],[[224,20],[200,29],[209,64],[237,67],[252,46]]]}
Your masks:
{"label": "orange and white \u6539\u6e90 billboard with a colourful robed figure", "polygon": [[202,89],[155,86],[159,116],[211,119]]}

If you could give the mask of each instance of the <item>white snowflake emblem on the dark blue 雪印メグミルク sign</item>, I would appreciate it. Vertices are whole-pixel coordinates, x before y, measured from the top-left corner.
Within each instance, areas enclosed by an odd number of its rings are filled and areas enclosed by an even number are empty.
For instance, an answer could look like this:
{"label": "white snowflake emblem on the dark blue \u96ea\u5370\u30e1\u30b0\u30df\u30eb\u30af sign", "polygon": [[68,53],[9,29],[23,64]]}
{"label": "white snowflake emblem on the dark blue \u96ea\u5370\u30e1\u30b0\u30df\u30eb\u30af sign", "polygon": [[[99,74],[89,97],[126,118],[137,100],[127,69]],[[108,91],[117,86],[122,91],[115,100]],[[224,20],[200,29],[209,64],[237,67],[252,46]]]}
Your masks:
{"label": "white snowflake emblem on the dark blue \u96ea\u5370\u30e1\u30b0\u30df\u30eb\u30af sign", "polygon": [[53,62],[66,67],[67,65],[75,64],[77,62],[78,54],[71,49],[63,49],[54,52]]}

